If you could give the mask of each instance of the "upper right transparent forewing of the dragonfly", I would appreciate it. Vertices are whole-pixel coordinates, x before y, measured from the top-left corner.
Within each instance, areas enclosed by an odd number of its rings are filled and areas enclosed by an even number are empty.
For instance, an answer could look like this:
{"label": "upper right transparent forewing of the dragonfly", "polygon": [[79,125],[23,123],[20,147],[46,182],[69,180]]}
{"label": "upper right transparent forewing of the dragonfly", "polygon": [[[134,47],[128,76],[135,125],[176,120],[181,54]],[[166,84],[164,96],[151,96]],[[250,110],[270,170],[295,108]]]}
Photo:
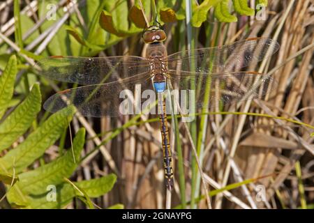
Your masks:
{"label": "upper right transparent forewing of the dragonfly", "polygon": [[256,66],[258,61],[271,56],[279,49],[276,40],[250,38],[232,45],[177,52],[167,56],[170,70],[208,73],[239,71],[247,66]]}

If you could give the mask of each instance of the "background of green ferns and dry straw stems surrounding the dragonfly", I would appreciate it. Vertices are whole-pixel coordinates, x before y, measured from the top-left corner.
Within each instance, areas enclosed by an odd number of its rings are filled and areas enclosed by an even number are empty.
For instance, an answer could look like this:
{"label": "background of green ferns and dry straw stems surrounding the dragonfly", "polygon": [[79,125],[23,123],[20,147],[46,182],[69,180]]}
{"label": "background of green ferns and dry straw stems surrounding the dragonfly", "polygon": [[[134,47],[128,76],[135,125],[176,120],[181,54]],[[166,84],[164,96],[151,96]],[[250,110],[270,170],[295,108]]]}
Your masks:
{"label": "background of green ferns and dry straw stems surrounding the dragonfly", "polygon": [[[169,54],[257,36],[280,43],[255,66],[276,79],[267,100],[210,111],[189,131],[213,208],[313,208],[313,1],[158,0],[156,10],[143,3],[164,24]],[[180,119],[170,123],[169,197],[158,119],[42,109],[72,85],[40,76],[38,59],[143,56],[143,25],[135,0],[0,1],[0,208],[207,208]]]}

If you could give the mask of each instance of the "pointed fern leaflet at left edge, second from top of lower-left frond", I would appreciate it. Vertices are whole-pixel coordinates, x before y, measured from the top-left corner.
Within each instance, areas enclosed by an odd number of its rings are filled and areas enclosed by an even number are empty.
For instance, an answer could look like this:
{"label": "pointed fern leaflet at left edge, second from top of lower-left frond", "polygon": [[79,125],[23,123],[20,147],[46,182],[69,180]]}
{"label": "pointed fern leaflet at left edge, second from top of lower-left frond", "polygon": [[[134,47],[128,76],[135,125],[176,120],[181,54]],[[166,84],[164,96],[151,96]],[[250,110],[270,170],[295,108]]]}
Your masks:
{"label": "pointed fern leaflet at left edge, second from top of lower-left frond", "polygon": [[39,85],[35,84],[27,98],[0,124],[0,151],[26,132],[40,111],[40,105]]}

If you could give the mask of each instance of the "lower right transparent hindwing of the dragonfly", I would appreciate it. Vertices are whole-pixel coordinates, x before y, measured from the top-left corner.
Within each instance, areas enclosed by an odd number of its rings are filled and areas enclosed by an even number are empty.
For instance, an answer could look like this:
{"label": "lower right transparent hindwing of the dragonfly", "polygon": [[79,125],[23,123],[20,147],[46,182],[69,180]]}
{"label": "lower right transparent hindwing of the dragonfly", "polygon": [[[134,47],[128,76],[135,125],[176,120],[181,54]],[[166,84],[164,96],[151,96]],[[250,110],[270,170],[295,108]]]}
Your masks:
{"label": "lower right transparent hindwing of the dragonfly", "polygon": [[[188,103],[192,105],[191,103],[193,103],[195,108],[207,107],[211,109],[231,105],[249,98],[264,99],[264,96],[276,87],[274,79],[258,72],[204,74],[182,71],[181,76],[172,75],[174,72],[177,71],[169,70],[170,81],[172,88],[179,90],[180,100],[182,100],[180,102],[184,105],[189,105]],[[193,84],[194,89],[191,88],[191,84]],[[186,92],[182,94],[184,91]],[[182,98],[183,96],[186,99]]]}

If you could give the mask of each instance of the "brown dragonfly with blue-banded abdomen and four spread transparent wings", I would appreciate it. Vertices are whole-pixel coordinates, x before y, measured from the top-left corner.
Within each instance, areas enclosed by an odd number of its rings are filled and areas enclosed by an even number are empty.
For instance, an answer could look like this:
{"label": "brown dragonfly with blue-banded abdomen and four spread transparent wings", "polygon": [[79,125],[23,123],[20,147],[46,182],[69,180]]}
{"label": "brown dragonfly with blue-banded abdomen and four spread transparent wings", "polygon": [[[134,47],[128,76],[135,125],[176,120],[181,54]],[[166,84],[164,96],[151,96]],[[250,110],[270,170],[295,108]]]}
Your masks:
{"label": "brown dragonfly with blue-banded abdomen and four spread transparent wings", "polygon": [[[61,82],[79,84],[48,98],[43,107],[49,112],[74,105],[78,114],[90,117],[122,116],[126,98],[133,104],[145,102],[144,91],[156,94],[154,102],[160,119],[165,182],[174,187],[172,151],[167,124],[167,89],[194,91],[196,109],[212,109],[232,103],[260,98],[271,91],[274,79],[255,71],[241,71],[256,66],[274,54],[279,45],[269,38],[249,38],[232,45],[186,50],[167,55],[162,26],[153,24],[144,29],[142,40],[147,44],[146,56],[75,57],[51,56],[38,61],[40,75]],[[256,79],[262,79],[256,84]],[[143,91],[143,92],[144,92]],[[181,97],[182,98],[182,97]],[[180,101],[180,100],[179,100]],[[142,106],[144,107],[144,106]],[[121,109],[122,108],[122,109]],[[128,108],[132,114],[138,106]]]}

